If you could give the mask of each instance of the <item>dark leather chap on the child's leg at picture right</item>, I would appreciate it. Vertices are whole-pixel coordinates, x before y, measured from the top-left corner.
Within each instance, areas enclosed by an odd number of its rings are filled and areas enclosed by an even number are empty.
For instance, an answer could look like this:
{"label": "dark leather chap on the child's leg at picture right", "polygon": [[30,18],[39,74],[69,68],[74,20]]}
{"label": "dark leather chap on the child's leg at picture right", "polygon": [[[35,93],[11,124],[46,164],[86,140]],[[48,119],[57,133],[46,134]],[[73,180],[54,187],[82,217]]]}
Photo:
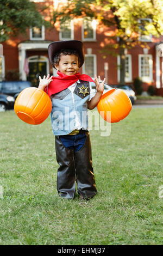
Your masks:
{"label": "dark leather chap on the child's leg at picture right", "polygon": [[85,132],[85,134],[86,140],[82,149],[74,153],[80,198],[90,198],[97,193],[92,167],[90,134],[89,132]]}

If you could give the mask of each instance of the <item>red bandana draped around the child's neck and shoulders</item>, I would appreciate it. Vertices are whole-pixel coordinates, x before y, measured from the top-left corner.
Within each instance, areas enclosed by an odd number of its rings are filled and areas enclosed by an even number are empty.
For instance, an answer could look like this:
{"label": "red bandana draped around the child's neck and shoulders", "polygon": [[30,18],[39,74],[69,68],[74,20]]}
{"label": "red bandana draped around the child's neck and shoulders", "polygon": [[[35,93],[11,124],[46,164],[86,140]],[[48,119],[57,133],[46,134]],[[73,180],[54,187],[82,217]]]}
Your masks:
{"label": "red bandana draped around the child's neck and shoulders", "polygon": [[93,82],[92,78],[88,75],[80,75],[78,72],[76,75],[67,76],[65,74],[62,74],[60,71],[57,72],[59,76],[53,76],[53,81],[49,83],[48,86],[48,93],[47,88],[45,89],[45,92],[51,96],[54,93],[59,93],[62,90],[65,90],[68,86],[71,86],[73,83],[77,82],[78,80],[82,81],[89,81]]}

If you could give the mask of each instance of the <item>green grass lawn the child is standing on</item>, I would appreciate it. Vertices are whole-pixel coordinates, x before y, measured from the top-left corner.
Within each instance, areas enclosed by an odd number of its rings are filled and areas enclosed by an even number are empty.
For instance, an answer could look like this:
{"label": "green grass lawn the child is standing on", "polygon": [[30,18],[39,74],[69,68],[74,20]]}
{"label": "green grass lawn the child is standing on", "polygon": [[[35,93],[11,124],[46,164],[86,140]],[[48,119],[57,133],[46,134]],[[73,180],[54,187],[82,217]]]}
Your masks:
{"label": "green grass lawn the child is standing on", "polygon": [[161,245],[163,108],[135,108],[109,137],[90,131],[98,194],[58,197],[51,120],[0,113],[1,245]]}

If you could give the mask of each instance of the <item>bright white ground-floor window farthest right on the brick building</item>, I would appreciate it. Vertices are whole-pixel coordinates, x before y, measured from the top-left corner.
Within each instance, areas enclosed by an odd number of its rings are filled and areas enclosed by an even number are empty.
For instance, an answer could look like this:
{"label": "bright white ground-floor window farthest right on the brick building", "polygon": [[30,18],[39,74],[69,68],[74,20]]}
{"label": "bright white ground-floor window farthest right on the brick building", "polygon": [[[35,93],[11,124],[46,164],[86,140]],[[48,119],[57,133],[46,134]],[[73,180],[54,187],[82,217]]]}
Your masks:
{"label": "bright white ground-floor window farthest right on the brick building", "polygon": [[151,54],[139,54],[139,77],[143,82],[153,81],[153,61]]}

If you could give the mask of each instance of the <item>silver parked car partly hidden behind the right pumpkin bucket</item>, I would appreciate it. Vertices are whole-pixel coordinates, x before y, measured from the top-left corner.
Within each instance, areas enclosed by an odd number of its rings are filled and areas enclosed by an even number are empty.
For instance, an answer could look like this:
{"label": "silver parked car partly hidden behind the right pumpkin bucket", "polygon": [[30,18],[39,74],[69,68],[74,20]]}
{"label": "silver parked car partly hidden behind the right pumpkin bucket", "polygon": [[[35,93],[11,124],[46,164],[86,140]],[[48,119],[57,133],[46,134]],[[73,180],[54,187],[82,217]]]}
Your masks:
{"label": "silver parked car partly hidden behind the right pumpkin bucket", "polygon": [[[96,93],[96,86],[92,87],[93,93]],[[127,96],[130,98],[130,101],[132,104],[134,104],[135,100],[136,100],[136,95],[133,89],[131,89],[129,86],[118,86],[117,84],[111,85],[109,86],[109,84],[104,84],[104,93],[108,92],[109,90],[111,90],[112,88],[116,88],[116,89],[121,89],[123,90],[124,93],[127,94]]]}

